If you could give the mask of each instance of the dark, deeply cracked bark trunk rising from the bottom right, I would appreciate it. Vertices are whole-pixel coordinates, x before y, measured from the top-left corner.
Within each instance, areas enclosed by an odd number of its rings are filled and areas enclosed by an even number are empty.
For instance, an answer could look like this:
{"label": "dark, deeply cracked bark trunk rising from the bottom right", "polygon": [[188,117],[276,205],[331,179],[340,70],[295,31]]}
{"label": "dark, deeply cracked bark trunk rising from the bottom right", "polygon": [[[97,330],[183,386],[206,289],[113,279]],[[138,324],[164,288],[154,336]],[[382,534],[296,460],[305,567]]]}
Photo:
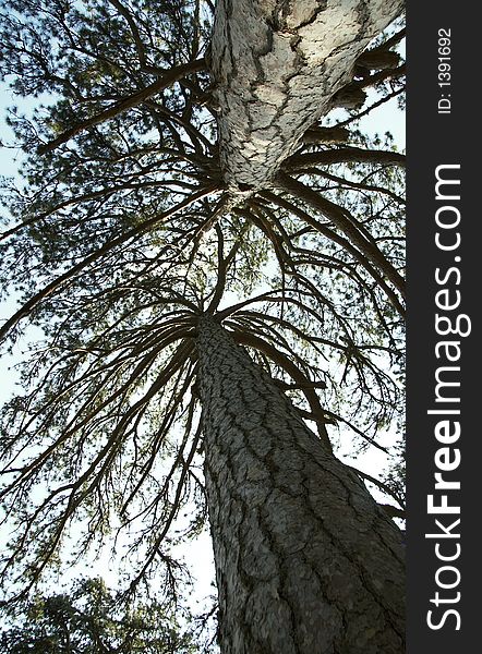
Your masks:
{"label": "dark, deeply cracked bark trunk rising from the bottom right", "polygon": [[212,318],[200,322],[222,654],[402,654],[399,530]]}

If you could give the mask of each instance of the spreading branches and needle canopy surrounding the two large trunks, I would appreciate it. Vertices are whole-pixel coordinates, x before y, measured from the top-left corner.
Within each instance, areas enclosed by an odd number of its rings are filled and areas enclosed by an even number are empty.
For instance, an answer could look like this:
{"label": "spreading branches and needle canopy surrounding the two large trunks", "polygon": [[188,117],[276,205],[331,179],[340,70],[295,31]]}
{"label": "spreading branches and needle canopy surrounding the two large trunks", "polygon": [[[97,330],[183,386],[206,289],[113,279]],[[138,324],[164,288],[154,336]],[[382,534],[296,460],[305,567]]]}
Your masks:
{"label": "spreading branches and needle canopy surrounding the two large trunks", "polygon": [[270,179],[233,192],[212,2],[1,5],[2,76],[38,102],[9,118],[24,185],[3,183],[0,275],[21,305],[0,338],[12,347],[28,324],[43,337],[2,413],[14,530],[0,573],[21,594],[62,546],[73,561],[124,530],[131,589],[161,570],[174,593],[172,545],[206,519],[200,315],[321,439],[344,425],[356,447],[382,447],[401,420],[405,157],[357,121],[401,97],[403,28],[363,45],[330,94],[330,108],[352,107],[344,119],[318,113]]}

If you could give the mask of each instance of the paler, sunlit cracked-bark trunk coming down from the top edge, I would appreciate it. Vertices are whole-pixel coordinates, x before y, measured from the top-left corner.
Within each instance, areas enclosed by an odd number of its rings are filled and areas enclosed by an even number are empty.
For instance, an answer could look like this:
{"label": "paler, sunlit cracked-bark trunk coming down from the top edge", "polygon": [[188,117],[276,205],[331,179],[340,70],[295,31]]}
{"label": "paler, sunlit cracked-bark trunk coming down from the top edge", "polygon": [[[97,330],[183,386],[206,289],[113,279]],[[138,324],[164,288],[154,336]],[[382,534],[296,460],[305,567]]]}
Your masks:
{"label": "paler, sunlit cracked-bark trunk coming down from the top edge", "polygon": [[402,0],[216,2],[213,95],[221,170],[233,191],[266,185],[402,7]]}

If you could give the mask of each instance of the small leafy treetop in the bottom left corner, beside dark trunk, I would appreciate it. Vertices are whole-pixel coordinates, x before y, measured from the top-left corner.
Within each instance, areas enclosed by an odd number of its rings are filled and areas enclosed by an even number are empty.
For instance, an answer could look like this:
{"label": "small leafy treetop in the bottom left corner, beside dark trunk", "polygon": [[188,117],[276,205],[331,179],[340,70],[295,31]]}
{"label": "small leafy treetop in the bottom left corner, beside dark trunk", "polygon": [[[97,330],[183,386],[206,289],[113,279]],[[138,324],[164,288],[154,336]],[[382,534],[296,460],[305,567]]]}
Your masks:
{"label": "small leafy treetop in the bottom left corner, beside dark trunk", "polygon": [[[22,613],[19,609],[22,608]],[[3,627],[3,654],[195,654],[189,631],[155,602],[123,605],[100,579],[36,595]]]}

